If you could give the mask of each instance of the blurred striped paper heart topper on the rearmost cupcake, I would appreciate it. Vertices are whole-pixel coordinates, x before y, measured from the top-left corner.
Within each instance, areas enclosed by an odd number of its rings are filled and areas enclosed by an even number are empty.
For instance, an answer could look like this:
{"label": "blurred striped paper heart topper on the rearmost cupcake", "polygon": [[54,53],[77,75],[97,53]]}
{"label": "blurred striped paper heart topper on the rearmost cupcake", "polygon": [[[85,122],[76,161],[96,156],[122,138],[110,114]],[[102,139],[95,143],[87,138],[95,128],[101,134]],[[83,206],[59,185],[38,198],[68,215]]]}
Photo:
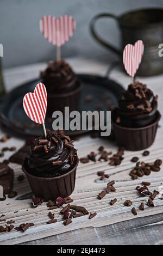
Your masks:
{"label": "blurred striped paper heart topper on the rearmost cupcake", "polygon": [[76,22],[73,17],[65,15],[58,19],[51,15],[44,16],[40,20],[40,31],[48,42],[60,47],[73,35]]}

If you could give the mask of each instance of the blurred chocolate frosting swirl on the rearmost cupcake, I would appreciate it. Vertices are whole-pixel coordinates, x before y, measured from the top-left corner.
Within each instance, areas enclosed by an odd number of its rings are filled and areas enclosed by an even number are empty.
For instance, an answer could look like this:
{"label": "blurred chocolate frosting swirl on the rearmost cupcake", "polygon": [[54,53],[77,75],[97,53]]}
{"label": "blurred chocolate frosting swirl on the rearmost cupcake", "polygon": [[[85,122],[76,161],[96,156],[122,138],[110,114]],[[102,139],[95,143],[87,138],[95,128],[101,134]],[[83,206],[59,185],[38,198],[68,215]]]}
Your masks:
{"label": "blurred chocolate frosting swirl on the rearmost cupcake", "polygon": [[78,78],[64,60],[49,62],[47,69],[42,71],[40,76],[49,94],[70,92],[77,86]]}

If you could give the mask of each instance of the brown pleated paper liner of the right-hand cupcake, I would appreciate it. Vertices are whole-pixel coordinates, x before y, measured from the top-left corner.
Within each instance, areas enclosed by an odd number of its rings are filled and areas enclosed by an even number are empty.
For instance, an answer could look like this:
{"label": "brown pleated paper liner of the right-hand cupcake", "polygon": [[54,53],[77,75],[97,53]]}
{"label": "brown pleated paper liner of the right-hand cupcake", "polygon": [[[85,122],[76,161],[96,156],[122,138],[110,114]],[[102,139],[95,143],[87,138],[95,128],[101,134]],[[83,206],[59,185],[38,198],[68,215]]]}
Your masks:
{"label": "brown pleated paper liner of the right-hand cupcake", "polygon": [[112,121],[112,130],[119,146],[126,150],[142,150],[150,147],[155,139],[158,123],[161,118],[160,113],[156,112],[156,120],[151,125],[141,128],[128,128],[117,125]]}

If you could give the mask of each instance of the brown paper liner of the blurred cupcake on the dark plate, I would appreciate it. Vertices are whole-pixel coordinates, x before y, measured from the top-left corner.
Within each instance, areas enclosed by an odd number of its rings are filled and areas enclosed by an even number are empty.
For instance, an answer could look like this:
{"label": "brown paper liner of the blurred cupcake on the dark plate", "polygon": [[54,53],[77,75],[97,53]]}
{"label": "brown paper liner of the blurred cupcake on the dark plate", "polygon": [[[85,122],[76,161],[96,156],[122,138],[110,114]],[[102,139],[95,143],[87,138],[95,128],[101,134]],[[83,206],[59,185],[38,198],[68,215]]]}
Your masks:
{"label": "brown paper liner of the blurred cupcake on the dark plate", "polygon": [[61,111],[64,113],[65,107],[69,107],[70,112],[78,110],[81,90],[82,84],[79,82],[77,88],[72,92],[54,95],[48,94],[48,116],[52,117],[54,111]]}

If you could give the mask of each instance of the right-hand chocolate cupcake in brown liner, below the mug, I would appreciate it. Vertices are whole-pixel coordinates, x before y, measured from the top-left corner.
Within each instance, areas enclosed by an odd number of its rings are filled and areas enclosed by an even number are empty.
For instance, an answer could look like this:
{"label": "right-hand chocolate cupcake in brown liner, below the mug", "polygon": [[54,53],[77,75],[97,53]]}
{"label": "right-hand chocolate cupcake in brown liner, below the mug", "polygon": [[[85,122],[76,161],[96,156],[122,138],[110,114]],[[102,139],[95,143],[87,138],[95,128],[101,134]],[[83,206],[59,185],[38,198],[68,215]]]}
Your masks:
{"label": "right-hand chocolate cupcake in brown liner, below the mug", "polygon": [[118,145],[128,150],[148,148],[155,139],[160,113],[158,96],[146,84],[128,86],[112,114],[112,126]]}

